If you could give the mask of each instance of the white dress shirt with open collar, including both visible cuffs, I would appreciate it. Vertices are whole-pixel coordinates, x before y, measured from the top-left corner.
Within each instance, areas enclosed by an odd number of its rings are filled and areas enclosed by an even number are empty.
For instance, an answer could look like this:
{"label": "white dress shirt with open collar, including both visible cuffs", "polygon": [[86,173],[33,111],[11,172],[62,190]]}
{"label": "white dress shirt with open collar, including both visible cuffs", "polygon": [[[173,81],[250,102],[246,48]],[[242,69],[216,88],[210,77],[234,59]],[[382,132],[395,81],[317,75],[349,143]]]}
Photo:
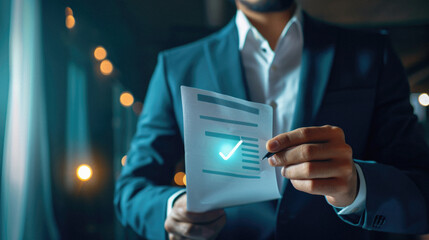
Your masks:
{"label": "white dress shirt with open collar, including both visible cuffs", "polygon": [[[274,135],[290,131],[295,113],[304,45],[302,11],[300,8],[295,10],[274,50],[242,11],[237,11],[235,21],[250,100],[273,107]],[[338,214],[361,214],[365,210],[365,178],[359,165],[355,163],[355,166],[360,182],[358,195],[351,205],[337,208]],[[167,216],[174,201],[184,193],[185,190],[180,190],[168,199]]]}

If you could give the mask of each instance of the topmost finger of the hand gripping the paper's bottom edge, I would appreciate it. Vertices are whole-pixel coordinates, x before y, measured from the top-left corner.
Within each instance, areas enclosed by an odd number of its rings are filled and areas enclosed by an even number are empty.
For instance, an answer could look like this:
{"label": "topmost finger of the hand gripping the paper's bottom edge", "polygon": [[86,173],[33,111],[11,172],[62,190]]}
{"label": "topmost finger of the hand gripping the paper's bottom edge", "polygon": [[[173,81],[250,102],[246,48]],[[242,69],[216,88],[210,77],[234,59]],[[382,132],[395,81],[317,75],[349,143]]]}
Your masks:
{"label": "topmost finger of the hand gripping the paper's bottom edge", "polygon": [[204,213],[194,213],[189,212],[185,208],[178,207],[173,208],[171,211],[171,216],[180,221],[180,222],[189,222],[189,223],[209,223],[222,215],[225,215],[225,211],[223,209],[217,209]]}

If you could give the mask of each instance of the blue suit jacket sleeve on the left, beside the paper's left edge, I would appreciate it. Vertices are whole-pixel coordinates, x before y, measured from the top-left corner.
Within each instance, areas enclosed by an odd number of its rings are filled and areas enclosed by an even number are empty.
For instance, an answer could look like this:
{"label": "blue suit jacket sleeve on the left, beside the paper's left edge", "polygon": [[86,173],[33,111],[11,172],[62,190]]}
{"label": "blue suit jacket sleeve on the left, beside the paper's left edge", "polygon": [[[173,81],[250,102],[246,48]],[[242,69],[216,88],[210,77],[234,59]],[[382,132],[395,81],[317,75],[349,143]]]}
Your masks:
{"label": "blue suit jacket sleeve on the left, beside the paper's left edge", "polygon": [[160,54],[115,188],[115,209],[121,223],[147,239],[166,238],[167,201],[179,190],[169,185],[184,152],[165,72]]}

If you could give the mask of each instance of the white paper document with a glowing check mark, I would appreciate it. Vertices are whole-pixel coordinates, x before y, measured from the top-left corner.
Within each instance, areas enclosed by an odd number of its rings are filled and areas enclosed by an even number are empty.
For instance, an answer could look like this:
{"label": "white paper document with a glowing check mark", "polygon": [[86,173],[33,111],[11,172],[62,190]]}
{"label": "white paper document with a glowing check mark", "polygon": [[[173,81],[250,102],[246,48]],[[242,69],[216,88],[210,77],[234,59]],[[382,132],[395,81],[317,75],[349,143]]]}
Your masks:
{"label": "white paper document with a glowing check mark", "polygon": [[280,198],[267,160],[273,131],[266,104],[181,87],[188,210],[203,212]]}

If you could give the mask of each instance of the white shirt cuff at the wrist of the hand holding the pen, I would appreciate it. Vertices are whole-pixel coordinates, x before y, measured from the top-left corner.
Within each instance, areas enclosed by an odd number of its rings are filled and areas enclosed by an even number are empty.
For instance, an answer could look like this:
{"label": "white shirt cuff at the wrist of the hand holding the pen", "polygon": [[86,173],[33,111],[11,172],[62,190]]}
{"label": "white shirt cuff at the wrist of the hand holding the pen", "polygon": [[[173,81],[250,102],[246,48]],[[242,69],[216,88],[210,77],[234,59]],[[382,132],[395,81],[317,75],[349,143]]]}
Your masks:
{"label": "white shirt cuff at the wrist of the hand holding the pen", "polygon": [[348,205],[347,207],[336,207],[328,202],[329,205],[333,206],[338,210],[339,215],[349,215],[349,214],[361,214],[365,210],[365,203],[366,203],[366,182],[365,177],[363,175],[362,169],[360,166],[355,163],[356,171],[358,173],[359,178],[359,191],[355,198],[355,200],[352,202],[352,204]]}

